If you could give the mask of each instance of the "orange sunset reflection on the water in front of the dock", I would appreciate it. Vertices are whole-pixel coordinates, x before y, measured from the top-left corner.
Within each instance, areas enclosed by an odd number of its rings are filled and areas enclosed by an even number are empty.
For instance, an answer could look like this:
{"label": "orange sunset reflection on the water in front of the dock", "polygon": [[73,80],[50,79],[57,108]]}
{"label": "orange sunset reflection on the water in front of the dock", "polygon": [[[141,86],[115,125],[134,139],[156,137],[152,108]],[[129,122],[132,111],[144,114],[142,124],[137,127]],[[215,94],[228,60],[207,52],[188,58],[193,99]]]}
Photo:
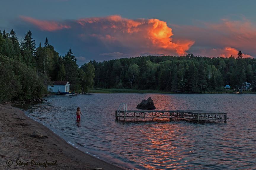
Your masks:
{"label": "orange sunset reflection on the water in front of the dock", "polygon": [[[158,122],[161,123],[161,122]],[[146,156],[143,155],[144,159],[140,160],[140,164],[146,169],[178,169],[178,167],[185,164],[187,161],[183,160],[183,156],[180,153],[183,153],[179,145],[186,145],[188,142],[185,137],[183,137],[184,128],[180,127],[177,124],[170,124],[162,122],[161,128],[158,125],[146,125],[146,130],[140,130],[139,133],[141,138],[146,138],[147,143],[144,143],[140,146],[140,149],[143,150],[143,153],[146,153]],[[176,131],[176,132],[175,132]],[[179,133],[177,134],[177,131]],[[176,135],[172,135],[176,134]],[[184,143],[174,143],[177,138],[182,139]],[[130,139],[133,140],[133,139]],[[191,147],[190,145],[187,146]],[[193,152],[191,149],[190,152]],[[136,158],[134,158],[134,161]],[[148,163],[150,162],[150,164]],[[164,165],[164,166],[163,166]]]}

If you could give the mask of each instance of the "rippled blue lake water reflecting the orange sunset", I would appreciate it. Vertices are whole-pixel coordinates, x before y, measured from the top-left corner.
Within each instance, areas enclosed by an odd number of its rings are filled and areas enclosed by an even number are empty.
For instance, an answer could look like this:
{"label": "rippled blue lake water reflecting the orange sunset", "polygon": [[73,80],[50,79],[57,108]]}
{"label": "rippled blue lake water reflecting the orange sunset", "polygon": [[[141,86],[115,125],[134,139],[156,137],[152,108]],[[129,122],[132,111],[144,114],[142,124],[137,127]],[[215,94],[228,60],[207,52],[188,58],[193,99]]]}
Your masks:
{"label": "rippled blue lake water reflecting the orange sunset", "polygon": [[[50,96],[26,114],[65,140],[133,169],[256,169],[256,95],[93,94]],[[227,123],[116,121],[121,102],[135,109],[151,97],[157,109],[227,112]],[[81,122],[76,122],[81,107]],[[83,146],[83,147],[81,147]]]}

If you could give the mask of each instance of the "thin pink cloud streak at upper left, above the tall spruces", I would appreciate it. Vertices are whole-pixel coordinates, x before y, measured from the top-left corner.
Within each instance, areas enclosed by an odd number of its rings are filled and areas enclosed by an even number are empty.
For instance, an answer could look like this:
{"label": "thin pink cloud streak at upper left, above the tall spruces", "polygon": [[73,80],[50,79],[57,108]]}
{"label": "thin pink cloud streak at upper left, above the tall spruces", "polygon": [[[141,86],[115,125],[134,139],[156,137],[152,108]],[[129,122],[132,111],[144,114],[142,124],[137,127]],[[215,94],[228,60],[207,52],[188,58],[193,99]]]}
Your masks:
{"label": "thin pink cloud streak at upper left, above the tall spruces", "polygon": [[25,17],[25,16],[20,16],[21,19],[23,19],[25,22],[29,22],[31,24],[36,25],[39,27],[40,30],[43,31],[56,31],[56,30],[61,30],[63,28],[70,28],[70,26],[65,25],[65,24],[60,24],[55,21],[41,21],[37,20],[31,17]]}

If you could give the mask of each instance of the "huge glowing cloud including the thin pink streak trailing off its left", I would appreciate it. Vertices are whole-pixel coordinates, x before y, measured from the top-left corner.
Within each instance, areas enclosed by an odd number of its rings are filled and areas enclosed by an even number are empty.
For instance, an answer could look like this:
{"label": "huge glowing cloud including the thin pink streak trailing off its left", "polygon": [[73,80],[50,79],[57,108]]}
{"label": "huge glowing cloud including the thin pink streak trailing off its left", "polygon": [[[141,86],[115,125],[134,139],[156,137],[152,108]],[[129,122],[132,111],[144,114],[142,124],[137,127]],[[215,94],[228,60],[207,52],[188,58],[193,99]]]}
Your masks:
{"label": "huge glowing cloud including the thin pink streak trailing off its left", "polygon": [[[119,46],[133,55],[185,55],[194,44],[192,40],[172,40],[172,29],[159,19],[127,19],[118,15],[108,17],[82,18],[63,22],[41,21],[30,17],[21,17],[44,31],[69,28],[69,34],[77,34],[82,41],[95,38],[113,53]],[[123,53],[123,51],[120,51]]]}

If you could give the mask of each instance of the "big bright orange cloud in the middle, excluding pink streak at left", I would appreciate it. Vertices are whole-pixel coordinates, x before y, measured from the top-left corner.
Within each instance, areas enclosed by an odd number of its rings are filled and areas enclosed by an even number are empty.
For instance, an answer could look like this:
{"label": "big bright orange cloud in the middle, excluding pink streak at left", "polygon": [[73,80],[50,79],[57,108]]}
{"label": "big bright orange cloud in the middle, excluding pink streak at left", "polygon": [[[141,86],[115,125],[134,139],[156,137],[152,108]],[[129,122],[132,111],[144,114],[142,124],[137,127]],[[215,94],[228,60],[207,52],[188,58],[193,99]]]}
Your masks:
{"label": "big bright orange cloud in the middle, excluding pink streak at left", "polygon": [[166,55],[185,55],[194,44],[192,40],[172,41],[172,29],[159,19],[127,19],[114,15],[109,17],[94,17],[76,21],[82,27],[93,25],[98,37],[103,42],[116,41],[126,47],[140,47],[141,53],[158,53]]}

